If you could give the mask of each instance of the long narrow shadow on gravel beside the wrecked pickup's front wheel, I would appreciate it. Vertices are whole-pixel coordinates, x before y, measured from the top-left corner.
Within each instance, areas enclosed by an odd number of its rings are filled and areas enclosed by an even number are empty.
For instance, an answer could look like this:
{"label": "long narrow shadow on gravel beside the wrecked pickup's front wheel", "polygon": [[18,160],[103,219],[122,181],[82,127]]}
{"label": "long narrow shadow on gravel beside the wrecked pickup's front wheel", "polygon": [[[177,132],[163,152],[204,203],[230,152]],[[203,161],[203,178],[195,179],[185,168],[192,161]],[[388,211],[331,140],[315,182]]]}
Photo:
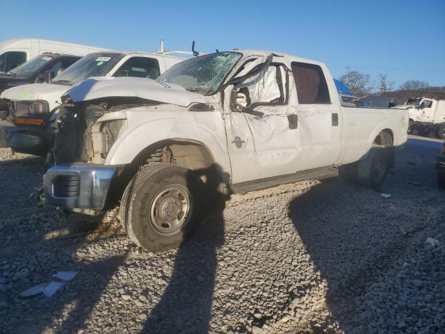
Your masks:
{"label": "long narrow shadow on gravel beside the wrecked pickup's front wheel", "polygon": [[[207,215],[190,242],[179,248],[172,276],[161,301],[152,310],[142,333],[209,333],[216,250],[224,244],[223,210],[227,196],[218,193],[216,165],[194,170],[190,177],[207,182]],[[211,200],[209,200],[211,199]],[[191,261],[193,259],[193,261]]]}

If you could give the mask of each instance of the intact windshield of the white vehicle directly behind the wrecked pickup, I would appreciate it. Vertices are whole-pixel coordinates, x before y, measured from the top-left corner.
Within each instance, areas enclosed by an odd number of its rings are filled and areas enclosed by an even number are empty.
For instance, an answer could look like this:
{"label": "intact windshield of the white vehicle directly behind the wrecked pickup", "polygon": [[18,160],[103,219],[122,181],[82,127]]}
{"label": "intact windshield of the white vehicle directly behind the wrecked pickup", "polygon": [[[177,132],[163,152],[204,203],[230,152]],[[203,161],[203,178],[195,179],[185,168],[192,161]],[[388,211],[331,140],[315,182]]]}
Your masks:
{"label": "intact windshield of the white vehicle directly behind the wrecked pickup", "polygon": [[74,85],[89,77],[104,77],[123,56],[123,54],[103,52],[87,54],[55,77],[52,82]]}

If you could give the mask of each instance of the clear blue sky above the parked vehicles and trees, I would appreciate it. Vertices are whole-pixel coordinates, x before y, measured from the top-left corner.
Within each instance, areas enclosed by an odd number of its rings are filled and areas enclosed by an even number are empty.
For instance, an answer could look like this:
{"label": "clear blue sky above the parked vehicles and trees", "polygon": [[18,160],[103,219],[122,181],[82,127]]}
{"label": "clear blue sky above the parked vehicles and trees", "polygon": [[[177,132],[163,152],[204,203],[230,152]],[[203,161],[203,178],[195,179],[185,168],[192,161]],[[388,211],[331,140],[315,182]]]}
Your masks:
{"label": "clear blue sky above the parked vehicles and trees", "polygon": [[445,86],[445,0],[10,1],[0,39],[44,38],[97,47],[268,49],[351,70]]}

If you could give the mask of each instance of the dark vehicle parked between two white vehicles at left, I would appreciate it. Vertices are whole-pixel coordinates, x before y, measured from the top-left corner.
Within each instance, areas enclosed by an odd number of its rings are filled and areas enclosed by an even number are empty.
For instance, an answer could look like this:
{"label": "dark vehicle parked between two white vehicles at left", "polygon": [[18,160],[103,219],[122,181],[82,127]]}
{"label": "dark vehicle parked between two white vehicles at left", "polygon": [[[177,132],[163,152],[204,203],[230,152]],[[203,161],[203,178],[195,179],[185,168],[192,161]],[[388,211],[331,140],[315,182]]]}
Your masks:
{"label": "dark vehicle parked between two white vehicles at left", "polygon": [[51,81],[67,67],[79,61],[80,56],[69,54],[42,54],[26,61],[8,73],[0,74],[0,93],[3,90],[25,84]]}

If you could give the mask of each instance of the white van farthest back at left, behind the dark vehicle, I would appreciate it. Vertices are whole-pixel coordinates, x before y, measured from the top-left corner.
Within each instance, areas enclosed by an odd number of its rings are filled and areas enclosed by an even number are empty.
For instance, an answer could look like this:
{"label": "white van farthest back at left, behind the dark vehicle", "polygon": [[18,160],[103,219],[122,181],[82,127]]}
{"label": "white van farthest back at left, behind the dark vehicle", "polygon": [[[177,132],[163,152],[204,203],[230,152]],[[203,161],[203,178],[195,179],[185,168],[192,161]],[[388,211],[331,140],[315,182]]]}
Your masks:
{"label": "white van farthest back at left, behind the dark vehicle", "polygon": [[4,42],[0,42],[0,72],[7,73],[18,65],[22,65],[22,63],[29,61],[31,58],[46,52],[85,56],[96,51],[106,51],[106,49],[35,38],[5,40]]}

